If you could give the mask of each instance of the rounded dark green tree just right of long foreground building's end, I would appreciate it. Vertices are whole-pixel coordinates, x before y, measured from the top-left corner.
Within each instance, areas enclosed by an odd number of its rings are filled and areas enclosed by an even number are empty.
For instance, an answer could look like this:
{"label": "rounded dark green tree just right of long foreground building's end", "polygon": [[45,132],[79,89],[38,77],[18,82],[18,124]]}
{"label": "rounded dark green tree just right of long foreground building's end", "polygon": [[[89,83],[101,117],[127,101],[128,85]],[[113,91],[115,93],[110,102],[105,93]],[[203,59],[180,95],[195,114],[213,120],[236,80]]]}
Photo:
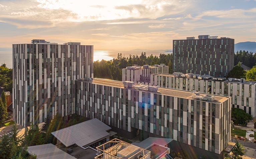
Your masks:
{"label": "rounded dark green tree just right of long foreground building's end", "polygon": [[239,108],[232,108],[231,119],[234,121],[234,124],[239,124],[246,126],[249,120],[252,119],[252,116],[247,114],[244,110]]}

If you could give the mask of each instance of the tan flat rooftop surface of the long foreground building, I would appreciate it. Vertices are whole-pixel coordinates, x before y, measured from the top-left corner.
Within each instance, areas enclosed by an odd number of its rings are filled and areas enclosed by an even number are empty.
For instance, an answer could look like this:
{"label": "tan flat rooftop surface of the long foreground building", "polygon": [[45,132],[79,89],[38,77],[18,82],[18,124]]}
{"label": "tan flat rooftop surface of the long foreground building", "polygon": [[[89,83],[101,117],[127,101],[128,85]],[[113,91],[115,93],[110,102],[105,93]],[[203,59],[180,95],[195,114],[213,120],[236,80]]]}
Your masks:
{"label": "tan flat rooftop surface of the long foreground building", "polygon": [[[78,80],[78,81],[83,81],[83,80]],[[121,81],[107,80],[107,79],[101,79],[101,78],[93,78],[93,80],[83,81],[83,82],[104,85],[104,86],[110,86],[110,87],[124,88],[123,82],[121,82]],[[139,86],[140,84],[135,84],[135,85]],[[126,89],[134,89],[134,88],[126,88]],[[150,92],[151,93],[151,91],[142,91],[142,92]],[[152,92],[152,93],[193,100],[192,99],[193,92],[191,92],[191,91],[158,87],[158,91]],[[200,93],[200,96],[203,96],[203,95],[211,95],[212,96],[212,94]],[[231,97],[226,97],[226,96],[221,96],[221,95],[214,95],[214,96],[215,96],[215,100],[212,102],[208,102],[208,103],[221,104],[221,103],[225,102],[227,99],[231,98]]]}

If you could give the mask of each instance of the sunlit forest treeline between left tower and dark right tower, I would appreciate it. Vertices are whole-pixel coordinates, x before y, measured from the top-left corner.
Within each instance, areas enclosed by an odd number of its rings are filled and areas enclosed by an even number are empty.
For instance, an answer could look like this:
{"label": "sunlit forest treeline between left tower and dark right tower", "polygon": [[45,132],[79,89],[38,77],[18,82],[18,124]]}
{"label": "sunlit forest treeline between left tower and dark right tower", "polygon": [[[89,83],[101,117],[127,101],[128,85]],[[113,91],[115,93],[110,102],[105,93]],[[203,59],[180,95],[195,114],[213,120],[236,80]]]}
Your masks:
{"label": "sunlit forest treeline between left tower and dark right tower", "polygon": [[164,63],[169,66],[169,73],[173,72],[173,55],[172,54],[160,54],[159,56],[147,56],[146,52],[142,52],[140,56],[129,55],[124,57],[121,53],[117,54],[117,58],[106,61],[94,61],[93,74],[95,78],[107,78],[112,80],[122,80],[122,68],[133,65],[154,65]]}

